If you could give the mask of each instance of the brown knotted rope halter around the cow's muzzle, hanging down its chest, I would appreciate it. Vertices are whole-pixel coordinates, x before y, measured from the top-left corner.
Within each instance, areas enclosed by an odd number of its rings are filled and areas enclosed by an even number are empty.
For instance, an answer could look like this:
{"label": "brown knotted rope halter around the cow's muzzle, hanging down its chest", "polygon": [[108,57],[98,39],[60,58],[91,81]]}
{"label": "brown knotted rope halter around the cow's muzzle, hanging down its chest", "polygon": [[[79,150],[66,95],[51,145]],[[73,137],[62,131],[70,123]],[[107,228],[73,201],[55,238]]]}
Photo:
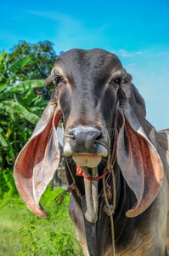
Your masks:
{"label": "brown knotted rope halter around the cow's muzzle, hanging down its chest", "polygon": [[[65,133],[65,129],[64,129],[63,123],[61,124],[61,126],[62,126],[62,130],[63,130],[63,133],[64,133],[65,137],[74,138],[73,135],[68,135],[68,134]],[[115,213],[116,189],[115,189],[115,173],[114,173],[113,167],[115,165],[115,160],[116,160],[115,148],[116,148],[116,143],[117,143],[117,134],[118,134],[118,132],[117,132],[117,119],[115,117],[115,141],[114,141],[114,145],[113,145],[113,153],[112,153],[111,161],[110,161],[110,157],[111,157],[111,155],[110,155],[110,148],[105,143],[101,143],[98,140],[95,140],[95,143],[101,144],[102,146],[104,146],[108,150],[107,167],[104,169],[104,174],[102,176],[100,176],[100,177],[97,177],[97,178],[90,178],[90,177],[87,177],[86,175],[82,175],[83,177],[85,177],[85,178],[87,178],[89,180],[96,180],[96,179],[99,179],[99,178],[103,178],[104,201],[105,201],[105,204],[106,204],[104,206],[104,212],[106,212],[107,215],[110,216],[111,239],[112,239],[112,256],[115,256],[115,231],[114,231],[113,214]],[[59,201],[59,205],[61,205],[62,201],[65,198],[65,195],[67,193],[70,193],[73,189],[76,189],[77,195],[79,197],[82,197],[82,195],[80,193],[80,190],[76,186],[75,178],[73,177],[73,174],[72,174],[72,172],[70,170],[70,166],[69,166],[68,160],[66,158],[65,158],[65,161],[66,161],[66,165],[68,166],[68,169],[69,169],[70,175],[72,177],[73,183],[64,192],[62,192],[60,195],[58,195],[55,198],[55,202]],[[79,166],[79,167],[81,167],[81,166]],[[109,172],[109,175],[108,175],[108,177],[105,180],[105,175],[108,172]],[[112,189],[113,189],[113,204],[112,205],[110,205],[109,200],[108,200],[108,198],[110,198],[110,195],[106,191],[106,187],[107,187],[106,185],[107,185],[108,179],[110,177],[110,173],[111,173],[111,176],[112,176]],[[110,187],[110,186],[108,185],[108,187]]]}

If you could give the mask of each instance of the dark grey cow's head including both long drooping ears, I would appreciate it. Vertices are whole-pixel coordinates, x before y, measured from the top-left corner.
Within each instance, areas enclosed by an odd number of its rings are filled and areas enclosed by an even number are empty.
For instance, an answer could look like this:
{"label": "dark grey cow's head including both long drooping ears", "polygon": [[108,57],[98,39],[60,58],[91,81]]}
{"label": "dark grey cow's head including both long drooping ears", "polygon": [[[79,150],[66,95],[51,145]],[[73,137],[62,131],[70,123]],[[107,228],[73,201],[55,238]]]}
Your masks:
{"label": "dark grey cow's head including both long drooping ears", "polygon": [[[59,165],[56,127],[61,116],[65,156],[82,166],[87,177],[98,176],[99,163],[112,144],[117,116],[117,161],[138,201],[127,216],[134,217],[149,207],[161,186],[162,164],[155,136],[150,140],[147,135],[152,126],[144,119],[144,100],[128,84],[131,80],[117,56],[103,49],[71,49],[59,55],[44,83],[54,84],[53,95],[14,168],[17,188],[32,212],[48,215],[39,200]],[[87,220],[95,222],[98,182],[84,178],[84,185],[82,209]]]}

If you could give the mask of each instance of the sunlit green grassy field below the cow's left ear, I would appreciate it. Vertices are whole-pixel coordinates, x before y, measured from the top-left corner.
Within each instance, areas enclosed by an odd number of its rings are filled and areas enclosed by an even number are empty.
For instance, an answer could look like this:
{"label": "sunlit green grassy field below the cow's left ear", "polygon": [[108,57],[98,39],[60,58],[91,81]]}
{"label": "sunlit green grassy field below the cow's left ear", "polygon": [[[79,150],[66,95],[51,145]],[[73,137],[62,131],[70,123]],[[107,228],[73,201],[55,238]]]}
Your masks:
{"label": "sunlit green grassy field below the cow's left ear", "polygon": [[0,255],[82,255],[76,241],[75,228],[70,220],[70,196],[59,207],[54,198],[62,189],[47,191],[41,204],[50,216],[38,218],[19,197],[4,195],[0,203]]}

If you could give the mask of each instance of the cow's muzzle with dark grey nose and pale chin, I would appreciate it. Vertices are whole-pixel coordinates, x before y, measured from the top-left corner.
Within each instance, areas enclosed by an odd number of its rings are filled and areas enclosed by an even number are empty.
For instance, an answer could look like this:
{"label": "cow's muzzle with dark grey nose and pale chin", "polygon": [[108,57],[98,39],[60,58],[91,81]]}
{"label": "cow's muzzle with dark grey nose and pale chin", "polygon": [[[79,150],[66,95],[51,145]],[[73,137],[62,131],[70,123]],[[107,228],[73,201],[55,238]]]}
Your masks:
{"label": "cow's muzzle with dark grey nose and pale chin", "polygon": [[99,142],[108,145],[104,131],[93,127],[77,126],[69,130],[64,138],[64,154],[72,157],[79,166],[93,168],[98,166],[102,157],[108,154],[107,148]]}

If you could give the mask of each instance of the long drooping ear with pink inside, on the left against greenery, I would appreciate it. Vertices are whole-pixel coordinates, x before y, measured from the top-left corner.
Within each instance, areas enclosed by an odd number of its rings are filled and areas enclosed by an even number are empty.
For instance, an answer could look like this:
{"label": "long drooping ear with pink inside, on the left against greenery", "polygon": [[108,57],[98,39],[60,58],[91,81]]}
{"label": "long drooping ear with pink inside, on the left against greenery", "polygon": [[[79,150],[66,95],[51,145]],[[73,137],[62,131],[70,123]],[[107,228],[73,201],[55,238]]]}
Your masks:
{"label": "long drooping ear with pink inside, on the left against greenery", "polygon": [[39,201],[59,166],[59,143],[56,128],[61,111],[55,91],[42,113],[31,139],[14,165],[14,181],[26,206],[39,217],[48,217]]}

